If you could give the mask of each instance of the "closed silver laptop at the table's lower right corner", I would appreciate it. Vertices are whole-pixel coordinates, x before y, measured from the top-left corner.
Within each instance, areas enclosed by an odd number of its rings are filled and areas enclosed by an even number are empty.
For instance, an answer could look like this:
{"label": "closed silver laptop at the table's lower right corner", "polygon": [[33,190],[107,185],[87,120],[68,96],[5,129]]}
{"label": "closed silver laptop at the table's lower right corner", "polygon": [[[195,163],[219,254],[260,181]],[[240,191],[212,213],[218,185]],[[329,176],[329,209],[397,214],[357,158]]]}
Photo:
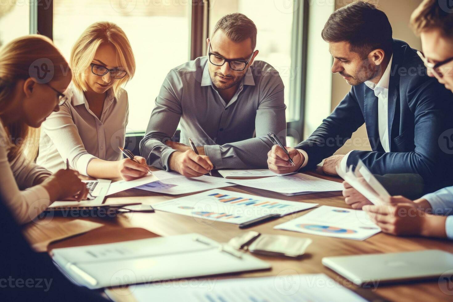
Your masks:
{"label": "closed silver laptop at the table's lower right corner", "polygon": [[324,257],[322,263],[359,286],[453,275],[453,254],[438,249]]}

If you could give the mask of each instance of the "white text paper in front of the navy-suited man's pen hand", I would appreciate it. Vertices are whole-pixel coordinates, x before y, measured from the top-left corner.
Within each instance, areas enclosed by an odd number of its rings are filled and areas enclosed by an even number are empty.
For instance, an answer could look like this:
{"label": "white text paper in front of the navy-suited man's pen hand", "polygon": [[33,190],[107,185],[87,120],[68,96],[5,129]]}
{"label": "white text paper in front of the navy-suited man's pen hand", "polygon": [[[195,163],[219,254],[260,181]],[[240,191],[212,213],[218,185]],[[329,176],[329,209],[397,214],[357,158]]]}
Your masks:
{"label": "white text paper in front of the navy-suited man's pen hand", "polygon": [[231,179],[229,182],[241,186],[282,193],[287,196],[343,190],[341,182],[332,182],[302,173],[260,179]]}

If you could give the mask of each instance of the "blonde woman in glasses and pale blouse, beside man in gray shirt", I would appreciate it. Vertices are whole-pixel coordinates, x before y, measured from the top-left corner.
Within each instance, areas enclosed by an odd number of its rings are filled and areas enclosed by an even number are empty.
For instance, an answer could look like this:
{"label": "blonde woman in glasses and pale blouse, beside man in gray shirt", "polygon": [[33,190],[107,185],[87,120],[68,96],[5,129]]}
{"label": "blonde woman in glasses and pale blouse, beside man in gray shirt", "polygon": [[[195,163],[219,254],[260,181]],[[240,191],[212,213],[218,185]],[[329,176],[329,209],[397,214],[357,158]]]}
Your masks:
{"label": "blonde woman in glasses and pale blouse, beside man in gray shirt", "polygon": [[127,92],[121,88],[135,73],[135,59],[124,31],[96,22],[71,51],[72,83],[68,101],[43,123],[37,163],[50,171],[66,158],[79,173],[95,178],[145,176],[145,158],[122,159],[129,116]]}

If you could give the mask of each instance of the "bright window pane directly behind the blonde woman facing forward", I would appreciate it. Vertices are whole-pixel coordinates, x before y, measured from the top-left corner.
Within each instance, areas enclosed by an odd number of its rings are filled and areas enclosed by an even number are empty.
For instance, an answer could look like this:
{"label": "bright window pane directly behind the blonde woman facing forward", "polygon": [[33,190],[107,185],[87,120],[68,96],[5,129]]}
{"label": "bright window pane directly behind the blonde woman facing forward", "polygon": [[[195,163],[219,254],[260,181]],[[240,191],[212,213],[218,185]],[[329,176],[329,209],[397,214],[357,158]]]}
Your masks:
{"label": "bright window pane directly behind the blonde woman facing forward", "polygon": [[171,68],[189,60],[191,6],[174,1],[53,0],[53,41],[69,60],[76,39],[91,24],[110,21],[127,35],[136,61],[126,132],[144,132],[154,100]]}

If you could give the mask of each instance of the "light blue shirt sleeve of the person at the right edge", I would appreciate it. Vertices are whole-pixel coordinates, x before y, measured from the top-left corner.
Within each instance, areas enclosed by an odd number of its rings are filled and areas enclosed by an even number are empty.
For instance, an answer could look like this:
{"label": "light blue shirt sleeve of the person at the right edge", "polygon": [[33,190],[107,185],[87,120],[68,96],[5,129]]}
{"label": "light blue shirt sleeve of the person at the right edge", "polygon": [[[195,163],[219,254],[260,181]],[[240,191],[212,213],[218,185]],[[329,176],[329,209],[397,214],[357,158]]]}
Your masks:
{"label": "light blue shirt sleeve of the person at the right edge", "polygon": [[453,239],[453,187],[440,189],[422,198],[429,202],[434,214],[448,215],[445,222],[445,232],[449,239]]}

